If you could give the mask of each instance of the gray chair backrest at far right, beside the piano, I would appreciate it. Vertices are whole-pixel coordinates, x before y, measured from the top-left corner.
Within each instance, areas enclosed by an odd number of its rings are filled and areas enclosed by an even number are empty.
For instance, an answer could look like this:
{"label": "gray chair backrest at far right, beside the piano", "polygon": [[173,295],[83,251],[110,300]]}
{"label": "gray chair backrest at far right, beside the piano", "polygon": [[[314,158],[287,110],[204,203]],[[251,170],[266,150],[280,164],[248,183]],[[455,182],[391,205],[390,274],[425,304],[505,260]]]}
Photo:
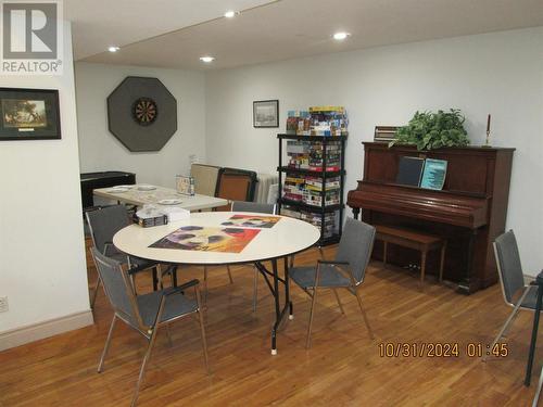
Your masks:
{"label": "gray chair backrest at far right, beside the piano", "polygon": [[494,255],[505,302],[513,304],[515,293],[525,287],[517,239],[513,230],[496,238],[494,241]]}

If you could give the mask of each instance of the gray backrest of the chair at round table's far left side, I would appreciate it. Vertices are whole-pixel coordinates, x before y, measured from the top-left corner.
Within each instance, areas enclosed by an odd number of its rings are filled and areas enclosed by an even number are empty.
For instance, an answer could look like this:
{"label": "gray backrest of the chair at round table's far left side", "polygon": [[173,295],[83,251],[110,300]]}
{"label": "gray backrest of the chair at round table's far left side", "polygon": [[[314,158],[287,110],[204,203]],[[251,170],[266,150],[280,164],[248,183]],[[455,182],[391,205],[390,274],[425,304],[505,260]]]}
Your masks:
{"label": "gray backrest of the chair at round table's far left side", "polygon": [[106,206],[101,209],[86,212],[87,224],[94,247],[105,254],[105,243],[113,241],[113,236],[130,225],[128,212],[124,205]]}

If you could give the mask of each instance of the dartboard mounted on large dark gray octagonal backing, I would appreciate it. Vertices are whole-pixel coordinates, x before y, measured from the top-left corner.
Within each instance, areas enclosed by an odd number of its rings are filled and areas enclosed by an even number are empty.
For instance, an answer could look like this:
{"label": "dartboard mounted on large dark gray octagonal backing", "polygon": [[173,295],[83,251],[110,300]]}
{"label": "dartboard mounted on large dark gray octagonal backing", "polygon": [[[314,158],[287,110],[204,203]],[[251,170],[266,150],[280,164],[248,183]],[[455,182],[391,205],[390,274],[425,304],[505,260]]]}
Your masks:
{"label": "dartboard mounted on large dark gray octagonal backing", "polygon": [[128,76],[108,97],[108,126],[129,151],[160,151],[177,131],[177,101],[159,79]]}

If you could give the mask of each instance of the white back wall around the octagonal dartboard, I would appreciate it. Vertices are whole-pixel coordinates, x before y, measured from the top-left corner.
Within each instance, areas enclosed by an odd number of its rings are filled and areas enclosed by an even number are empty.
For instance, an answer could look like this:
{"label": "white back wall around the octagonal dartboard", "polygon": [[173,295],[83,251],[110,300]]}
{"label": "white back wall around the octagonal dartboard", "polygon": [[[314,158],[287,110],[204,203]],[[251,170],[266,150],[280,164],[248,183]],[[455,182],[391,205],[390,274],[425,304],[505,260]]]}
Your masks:
{"label": "white back wall around the octagonal dartboard", "polygon": [[[178,129],[157,152],[131,153],[109,130],[106,98],[126,76],[159,78],[177,100]],[[140,183],[174,187],[189,155],[205,160],[204,74],[137,66],[75,64],[81,173],[125,170]]]}

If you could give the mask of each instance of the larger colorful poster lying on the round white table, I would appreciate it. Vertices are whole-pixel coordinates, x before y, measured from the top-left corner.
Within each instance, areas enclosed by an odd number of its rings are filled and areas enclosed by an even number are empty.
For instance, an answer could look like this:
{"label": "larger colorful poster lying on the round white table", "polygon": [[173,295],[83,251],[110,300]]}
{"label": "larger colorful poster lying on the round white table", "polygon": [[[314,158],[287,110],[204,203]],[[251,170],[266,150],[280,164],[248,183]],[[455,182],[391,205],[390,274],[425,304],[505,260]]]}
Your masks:
{"label": "larger colorful poster lying on the round white table", "polygon": [[240,253],[258,232],[258,229],[184,226],[149,247]]}

